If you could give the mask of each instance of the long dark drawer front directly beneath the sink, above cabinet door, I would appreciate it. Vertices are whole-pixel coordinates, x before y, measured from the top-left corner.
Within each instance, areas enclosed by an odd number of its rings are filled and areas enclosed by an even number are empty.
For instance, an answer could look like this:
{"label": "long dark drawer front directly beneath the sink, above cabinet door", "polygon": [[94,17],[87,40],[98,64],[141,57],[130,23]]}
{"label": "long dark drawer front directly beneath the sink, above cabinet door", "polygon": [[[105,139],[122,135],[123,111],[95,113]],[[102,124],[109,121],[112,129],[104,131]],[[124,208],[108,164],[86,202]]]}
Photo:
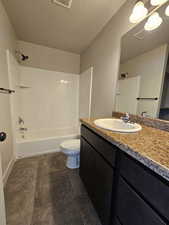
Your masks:
{"label": "long dark drawer front directly beneath the sink, above cabinet door", "polygon": [[112,165],[115,166],[116,147],[105,141],[101,136],[98,136],[93,131],[85,126],[81,126],[81,135],[84,137],[103,157]]}

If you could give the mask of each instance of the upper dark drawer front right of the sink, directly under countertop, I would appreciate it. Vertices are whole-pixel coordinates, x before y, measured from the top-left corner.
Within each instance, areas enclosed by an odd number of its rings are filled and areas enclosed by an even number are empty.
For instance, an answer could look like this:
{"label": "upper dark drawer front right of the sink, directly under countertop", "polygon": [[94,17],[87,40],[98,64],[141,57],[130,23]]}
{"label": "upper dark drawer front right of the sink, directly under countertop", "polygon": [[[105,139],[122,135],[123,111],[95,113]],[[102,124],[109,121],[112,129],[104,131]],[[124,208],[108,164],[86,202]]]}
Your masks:
{"label": "upper dark drawer front right of the sink, directly under countertop", "polygon": [[169,220],[169,185],[145,166],[121,154],[120,173],[157,211]]}

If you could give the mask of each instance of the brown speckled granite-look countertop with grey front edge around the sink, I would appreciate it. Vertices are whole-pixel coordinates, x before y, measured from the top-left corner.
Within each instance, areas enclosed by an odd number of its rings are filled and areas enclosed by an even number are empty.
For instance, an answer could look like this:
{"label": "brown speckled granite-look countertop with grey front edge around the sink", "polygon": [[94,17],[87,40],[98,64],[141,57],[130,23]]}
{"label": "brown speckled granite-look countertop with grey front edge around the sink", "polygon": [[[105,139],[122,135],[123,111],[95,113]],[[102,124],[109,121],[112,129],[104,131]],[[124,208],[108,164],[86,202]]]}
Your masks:
{"label": "brown speckled granite-look countertop with grey front edge around the sink", "polygon": [[116,133],[81,119],[82,124],[169,181],[169,132],[142,125],[137,133]]}

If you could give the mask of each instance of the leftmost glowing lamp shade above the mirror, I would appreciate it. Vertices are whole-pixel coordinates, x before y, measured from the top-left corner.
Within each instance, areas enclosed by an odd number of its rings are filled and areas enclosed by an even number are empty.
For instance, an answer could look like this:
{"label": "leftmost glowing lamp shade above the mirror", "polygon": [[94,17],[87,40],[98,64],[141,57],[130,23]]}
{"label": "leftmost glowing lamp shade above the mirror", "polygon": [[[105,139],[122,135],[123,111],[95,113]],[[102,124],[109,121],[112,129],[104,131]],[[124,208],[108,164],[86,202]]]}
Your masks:
{"label": "leftmost glowing lamp shade above the mirror", "polygon": [[130,16],[130,22],[131,23],[140,22],[147,15],[147,13],[148,10],[144,6],[144,3],[142,1],[137,2]]}

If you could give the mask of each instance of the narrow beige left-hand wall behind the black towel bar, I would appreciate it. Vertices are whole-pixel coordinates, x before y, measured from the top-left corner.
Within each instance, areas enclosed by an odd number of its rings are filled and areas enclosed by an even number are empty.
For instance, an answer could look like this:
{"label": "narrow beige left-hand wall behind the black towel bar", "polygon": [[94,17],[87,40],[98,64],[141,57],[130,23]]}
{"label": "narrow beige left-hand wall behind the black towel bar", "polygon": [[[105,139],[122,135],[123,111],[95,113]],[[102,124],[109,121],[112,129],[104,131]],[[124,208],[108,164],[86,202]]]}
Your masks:
{"label": "narrow beige left-hand wall behind the black towel bar", "polygon": [[[12,53],[15,49],[16,36],[15,32],[10,24],[9,18],[0,1],[0,83],[3,87],[9,87],[8,80],[8,67],[7,67],[7,57],[6,49],[9,49]],[[2,156],[2,172],[3,178],[6,179],[8,174],[8,169],[11,161],[14,159],[13,153],[13,137],[12,137],[12,126],[11,126],[11,111],[10,111],[10,96],[0,94],[1,98],[1,117],[0,124],[1,129],[8,134],[8,139],[3,144],[0,143],[0,152]]]}

